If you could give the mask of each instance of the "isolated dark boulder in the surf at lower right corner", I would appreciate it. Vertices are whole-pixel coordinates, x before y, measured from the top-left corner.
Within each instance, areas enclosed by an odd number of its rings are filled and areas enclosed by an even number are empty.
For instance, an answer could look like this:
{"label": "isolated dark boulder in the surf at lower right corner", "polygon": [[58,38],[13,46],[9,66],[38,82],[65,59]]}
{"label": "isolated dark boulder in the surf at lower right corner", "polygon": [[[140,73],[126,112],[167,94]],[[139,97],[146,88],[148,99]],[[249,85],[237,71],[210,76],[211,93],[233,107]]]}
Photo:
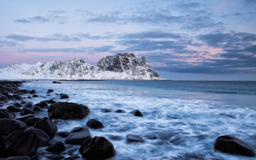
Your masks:
{"label": "isolated dark boulder in the surf at lower right corner", "polygon": [[214,148],[228,154],[237,154],[241,156],[255,156],[253,148],[244,143],[235,136],[220,136],[215,140]]}

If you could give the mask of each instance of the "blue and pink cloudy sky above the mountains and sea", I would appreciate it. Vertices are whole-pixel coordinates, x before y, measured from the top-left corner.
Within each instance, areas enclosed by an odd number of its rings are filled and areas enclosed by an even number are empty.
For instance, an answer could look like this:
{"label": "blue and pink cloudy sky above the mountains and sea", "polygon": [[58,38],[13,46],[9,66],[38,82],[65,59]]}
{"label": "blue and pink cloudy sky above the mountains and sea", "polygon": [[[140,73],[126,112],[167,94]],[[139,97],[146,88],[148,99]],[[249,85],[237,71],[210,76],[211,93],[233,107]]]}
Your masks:
{"label": "blue and pink cloudy sky above the mountains and sea", "polygon": [[256,81],[256,0],[0,1],[0,68],[133,52],[173,80]]}

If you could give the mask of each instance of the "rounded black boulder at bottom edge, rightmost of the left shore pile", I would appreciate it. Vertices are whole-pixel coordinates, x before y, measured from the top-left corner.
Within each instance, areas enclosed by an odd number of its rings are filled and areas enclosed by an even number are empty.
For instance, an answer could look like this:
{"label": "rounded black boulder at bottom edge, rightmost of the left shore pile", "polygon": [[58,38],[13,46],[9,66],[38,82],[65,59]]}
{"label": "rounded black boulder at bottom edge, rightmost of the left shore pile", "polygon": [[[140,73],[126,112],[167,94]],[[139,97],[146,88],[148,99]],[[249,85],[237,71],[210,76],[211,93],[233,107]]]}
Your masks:
{"label": "rounded black boulder at bottom edge, rightmost of the left shore pile", "polygon": [[86,159],[107,159],[116,154],[113,144],[106,138],[98,136],[85,140],[79,151]]}

